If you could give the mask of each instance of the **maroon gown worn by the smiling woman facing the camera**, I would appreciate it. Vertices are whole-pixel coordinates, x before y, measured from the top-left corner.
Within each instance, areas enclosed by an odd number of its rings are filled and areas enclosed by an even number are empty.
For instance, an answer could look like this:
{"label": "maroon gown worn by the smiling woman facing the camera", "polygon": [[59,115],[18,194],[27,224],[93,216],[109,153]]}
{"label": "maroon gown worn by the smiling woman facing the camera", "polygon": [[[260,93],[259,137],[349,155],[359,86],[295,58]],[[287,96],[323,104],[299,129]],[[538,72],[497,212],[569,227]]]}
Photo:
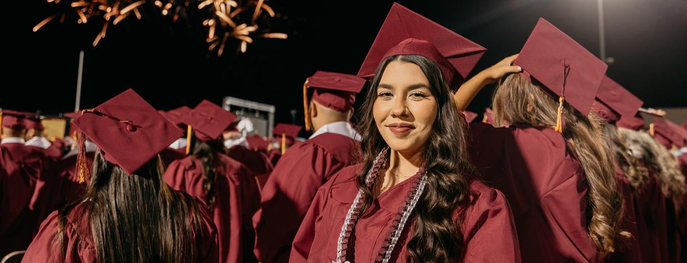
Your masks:
{"label": "maroon gown worn by the smiling woman facing the camera", "polygon": [[[362,165],[343,168],[319,187],[315,199],[293,240],[290,262],[332,262],[336,258],[337,240],[346,213],[358,192],[355,176]],[[416,175],[418,176],[418,175]],[[374,262],[379,249],[391,230],[401,203],[412,187],[407,179],[383,192],[372,204],[371,216],[358,220],[352,233],[350,262]],[[463,262],[520,262],[513,216],[503,194],[480,182],[470,184],[469,205],[456,208],[463,211]],[[413,222],[413,221],[409,221]],[[408,233],[412,223],[398,240],[390,262],[407,262]]]}

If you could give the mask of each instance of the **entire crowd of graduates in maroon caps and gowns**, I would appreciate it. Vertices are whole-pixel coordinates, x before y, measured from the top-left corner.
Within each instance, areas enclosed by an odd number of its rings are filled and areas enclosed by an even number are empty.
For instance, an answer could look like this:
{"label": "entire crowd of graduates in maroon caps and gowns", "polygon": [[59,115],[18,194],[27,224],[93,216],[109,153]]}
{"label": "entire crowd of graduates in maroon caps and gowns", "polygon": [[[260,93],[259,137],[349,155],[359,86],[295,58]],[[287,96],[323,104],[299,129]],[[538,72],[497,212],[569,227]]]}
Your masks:
{"label": "entire crowd of graduates in maroon caps and gowns", "polygon": [[468,78],[485,51],[394,4],[357,75],[304,80],[308,138],[133,89],[52,141],[3,108],[0,258],[685,262],[687,125],[545,19]]}

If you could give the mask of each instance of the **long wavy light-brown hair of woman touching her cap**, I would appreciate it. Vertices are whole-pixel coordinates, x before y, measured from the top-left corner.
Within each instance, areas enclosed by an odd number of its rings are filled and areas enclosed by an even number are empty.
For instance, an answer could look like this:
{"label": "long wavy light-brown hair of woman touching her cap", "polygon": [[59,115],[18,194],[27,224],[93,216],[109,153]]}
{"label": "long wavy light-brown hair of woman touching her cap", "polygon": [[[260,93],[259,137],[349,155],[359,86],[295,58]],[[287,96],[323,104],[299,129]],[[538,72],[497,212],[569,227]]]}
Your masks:
{"label": "long wavy light-brown hair of woman touching her cap", "polygon": [[[556,125],[559,103],[528,80],[513,73],[499,82],[494,91],[494,124],[526,126]],[[620,229],[622,196],[616,188],[613,153],[603,135],[603,120],[589,113],[583,115],[570,104],[563,104],[567,125],[563,138],[585,170],[589,191],[587,234],[592,238],[600,258],[611,253],[629,233]]]}

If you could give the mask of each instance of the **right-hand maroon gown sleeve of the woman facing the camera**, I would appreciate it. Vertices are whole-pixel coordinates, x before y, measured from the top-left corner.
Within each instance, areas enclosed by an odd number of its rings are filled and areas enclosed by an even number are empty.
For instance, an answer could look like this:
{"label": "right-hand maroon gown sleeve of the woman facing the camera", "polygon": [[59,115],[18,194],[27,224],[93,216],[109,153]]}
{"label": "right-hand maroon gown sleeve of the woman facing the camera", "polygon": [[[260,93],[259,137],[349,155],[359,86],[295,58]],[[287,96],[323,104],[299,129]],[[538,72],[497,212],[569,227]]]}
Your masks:
{"label": "right-hand maroon gown sleeve of the woman facing the camera", "polygon": [[520,247],[510,205],[498,190],[474,182],[479,196],[466,211],[463,262],[520,262]]}

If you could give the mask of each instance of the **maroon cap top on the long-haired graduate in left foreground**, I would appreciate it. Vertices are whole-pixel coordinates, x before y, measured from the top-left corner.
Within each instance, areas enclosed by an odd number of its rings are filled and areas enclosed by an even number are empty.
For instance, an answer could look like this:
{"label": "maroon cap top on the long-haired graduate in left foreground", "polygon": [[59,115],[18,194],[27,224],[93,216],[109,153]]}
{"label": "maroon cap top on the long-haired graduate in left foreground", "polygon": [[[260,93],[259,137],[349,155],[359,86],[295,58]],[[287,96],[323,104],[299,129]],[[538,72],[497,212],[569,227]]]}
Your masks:
{"label": "maroon cap top on the long-haired graduate in left foreground", "polygon": [[181,137],[179,130],[157,113],[133,89],[76,117],[76,125],[98,148],[104,159],[133,174]]}

